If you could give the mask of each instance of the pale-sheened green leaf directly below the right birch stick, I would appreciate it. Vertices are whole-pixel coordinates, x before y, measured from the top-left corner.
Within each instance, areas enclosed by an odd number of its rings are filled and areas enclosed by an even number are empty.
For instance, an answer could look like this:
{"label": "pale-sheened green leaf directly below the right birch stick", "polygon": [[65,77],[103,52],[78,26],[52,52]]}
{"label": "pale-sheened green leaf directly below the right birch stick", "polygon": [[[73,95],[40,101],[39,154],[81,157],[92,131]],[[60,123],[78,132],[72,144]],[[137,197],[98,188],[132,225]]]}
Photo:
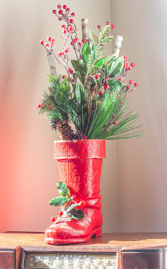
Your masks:
{"label": "pale-sheened green leaf directly below the right birch stick", "polygon": [[109,77],[117,77],[123,69],[123,63],[123,56],[120,56],[119,58],[113,60],[109,67]]}

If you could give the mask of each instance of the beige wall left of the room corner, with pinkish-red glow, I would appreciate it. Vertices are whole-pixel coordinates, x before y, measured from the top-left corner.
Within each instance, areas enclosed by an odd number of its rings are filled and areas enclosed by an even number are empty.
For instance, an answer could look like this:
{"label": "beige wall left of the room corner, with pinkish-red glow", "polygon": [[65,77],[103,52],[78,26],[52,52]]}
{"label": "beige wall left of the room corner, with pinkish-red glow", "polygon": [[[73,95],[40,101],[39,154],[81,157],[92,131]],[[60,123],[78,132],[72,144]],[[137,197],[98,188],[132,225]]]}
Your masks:
{"label": "beige wall left of the room corner, with pinkish-red glow", "polygon": [[[66,3],[1,1],[1,232],[44,231],[51,224],[50,218],[58,214],[57,208],[48,205],[51,198],[58,196],[57,163],[53,160],[53,140],[57,136],[48,127],[48,120],[38,115],[36,106],[48,85],[45,73],[50,72],[46,52],[39,41],[53,36],[56,51],[62,50],[58,28],[63,23],[52,10],[57,9],[57,4]],[[87,17],[89,27],[97,32],[99,23],[110,21],[110,10],[106,10],[109,1],[104,1],[103,7],[100,3],[86,0],[81,7],[79,1],[70,1],[69,8],[76,14],[78,28],[81,29],[82,17]],[[81,40],[81,31],[78,36]],[[106,55],[111,52],[108,46]],[[57,65],[57,69],[66,74],[61,66]],[[107,142],[100,187],[103,231],[118,231],[114,141]]]}

